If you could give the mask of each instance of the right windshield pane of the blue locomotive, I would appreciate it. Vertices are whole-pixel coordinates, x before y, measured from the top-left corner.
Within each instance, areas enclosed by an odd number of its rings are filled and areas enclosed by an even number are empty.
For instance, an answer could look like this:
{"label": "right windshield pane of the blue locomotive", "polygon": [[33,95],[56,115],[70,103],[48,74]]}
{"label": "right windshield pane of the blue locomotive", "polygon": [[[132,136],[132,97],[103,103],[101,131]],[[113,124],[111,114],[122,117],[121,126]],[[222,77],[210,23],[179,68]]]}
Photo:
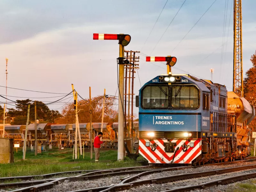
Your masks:
{"label": "right windshield pane of the blue locomotive", "polygon": [[173,86],[172,108],[197,108],[198,89],[195,86]]}

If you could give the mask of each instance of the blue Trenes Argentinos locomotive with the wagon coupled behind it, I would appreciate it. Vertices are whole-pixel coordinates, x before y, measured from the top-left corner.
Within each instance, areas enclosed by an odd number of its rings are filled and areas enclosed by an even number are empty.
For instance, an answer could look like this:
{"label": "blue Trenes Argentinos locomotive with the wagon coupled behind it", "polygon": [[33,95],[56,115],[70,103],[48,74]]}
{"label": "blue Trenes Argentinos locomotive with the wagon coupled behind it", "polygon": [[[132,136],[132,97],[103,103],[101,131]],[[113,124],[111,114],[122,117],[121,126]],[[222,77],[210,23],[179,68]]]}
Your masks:
{"label": "blue Trenes Argentinos locomotive with the wagon coupled behind it", "polygon": [[[140,155],[152,164],[205,164],[245,158],[250,150],[244,149],[247,138],[241,135],[248,132],[246,125],[254,114],[252,109],[245,114],[244,107],[228,112],[228,101],[225,85],[189,75],[156,76],[136,96]],[[238,142],[243,143],[240,148]]]}

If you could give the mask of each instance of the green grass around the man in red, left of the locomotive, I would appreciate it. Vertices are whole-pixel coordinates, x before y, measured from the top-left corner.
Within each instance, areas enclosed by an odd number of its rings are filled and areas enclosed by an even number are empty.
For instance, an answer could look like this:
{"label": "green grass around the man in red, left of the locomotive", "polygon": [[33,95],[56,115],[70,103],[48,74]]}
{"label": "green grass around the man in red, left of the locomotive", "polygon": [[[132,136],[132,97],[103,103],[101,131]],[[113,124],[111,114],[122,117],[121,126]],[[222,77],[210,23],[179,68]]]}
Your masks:
{"label": "green grass around the man in red, left of the locomotive", "polygon": [[[14,163],[0,164],[0,177],[14,177],[26,175],[42,175],[54,172],[78,171],[78,170],[94,170],[94,169],[111,169],[118,167],[141,166],[129,158],[124,161],[117,161],[117,150],[103,149],[100,152],[100,163],[94,163],[90,158],[90,149],[85,149],[84,158],[73,160],[73,149],[65,148],[64,150],[47,149],[47,151],[37,154],[30,151],[26,152],[26,160],[22,160],[22,148],[14,151]],[[138,157],[137,161],[143,160]]]}

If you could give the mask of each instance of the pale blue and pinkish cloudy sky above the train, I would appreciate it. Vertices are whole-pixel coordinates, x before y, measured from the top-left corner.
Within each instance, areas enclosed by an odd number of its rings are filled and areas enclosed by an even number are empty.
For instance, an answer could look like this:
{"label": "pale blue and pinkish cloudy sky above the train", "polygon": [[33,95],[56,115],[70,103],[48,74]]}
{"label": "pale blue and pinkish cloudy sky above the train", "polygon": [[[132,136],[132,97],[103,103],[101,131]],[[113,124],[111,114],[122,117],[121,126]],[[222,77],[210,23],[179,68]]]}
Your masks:
{"label": "pale blue and pinkish cloudy sky above the train", "polygon": [[[134,80],[136,95],[141,85],[166,73],[163,63],[145,62],[145,55],[177,57],[172,68],[174,74],[211,79],[210,68],[214,68],[213,82],[225,84],[228,91],[232,91],[233,0],[186,0],[185,3],[168,0],[165,3],[166,0],[2,0],[0,85],[5,86],[7,57],[7,87],[64,93],[8,89],[11,100],[31,98],[47,103],[71,92],[71,84],[83,98],[89,98],[89,86],[92,97],[103,95],[104,88],[106,94],[117,95],[118,42],[96,41],[92,37],[93,33],[124,33],[131,35],[125,50],[142,54],[137,55],[140,69]],[[242,1],[244,73],[252,67],[250,57],[256,50],[255,7],[255,0]],[[4,87],[0,87],[0,94],[5,95]],[[71,96],[49,108],[61,112],[65,103],[72,102]]]}

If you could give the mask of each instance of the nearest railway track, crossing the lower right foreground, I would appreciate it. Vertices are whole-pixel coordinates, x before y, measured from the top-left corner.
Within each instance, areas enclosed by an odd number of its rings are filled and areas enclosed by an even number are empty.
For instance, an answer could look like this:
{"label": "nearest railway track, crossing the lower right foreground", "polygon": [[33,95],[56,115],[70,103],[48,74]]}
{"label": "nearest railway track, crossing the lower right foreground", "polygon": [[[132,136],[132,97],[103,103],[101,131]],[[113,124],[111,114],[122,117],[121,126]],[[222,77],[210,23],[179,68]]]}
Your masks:
{"label": "nearest railway track, crossing the lower right foreground", "polygon": [[[200,177],[207,177],[212,175],[220,175],[224,173],[230,173],[230,172],[237,172],[237,171],[244,171],[248,169],[256,169],[256,164],[253,165],[245,165],[245,166],[238,166],[238,167],[232,167],[232,168],[226,168],[226,169],[218,169],[218,170],[212,170],[212,171],[206,171],[206,172],[195,172],[195,173],[186,173],[186,174],[179,174],[179,175],[172,175],[172,176],[166,176],[166,177],[158,177],[154,179],[146,179],[146,180],[135,180],[136,178],[139,178],[142,175],[150,174],[150,172],[143,172],[138,175],[125,178],[123,181],[121,181],[117,185],[111,185],[101,188],[90,188],[90,189],[84,189],[84,190],[77,190],[77,191],[70,191],[70,192],[111,192],[111,191],[120,191],[120,190],[127,190],[133,187],[138,187],[141,185],[147,185],[147,184],[162,184],[166,182],[174,182],[174,181],[180,181],[180,180],[187,180],[192,178],[200,178]],[[172,192],[172,191],[189,191],[193,189],[203,189],[208,188],[216,185],[224,185],[231,182],[236,182],[240,180],[247,180],[250,178],[256,178],[256,172],[254,173],[248,173],[248,174],[242,174],[238,176],[228,177],[220,180],[214,180],[211,182],[206,182],[200,185],[190,185],[190,186],[182,186],[182,187],[175,187],[171,188],[169,190],[166,190],[164,192]]]}

